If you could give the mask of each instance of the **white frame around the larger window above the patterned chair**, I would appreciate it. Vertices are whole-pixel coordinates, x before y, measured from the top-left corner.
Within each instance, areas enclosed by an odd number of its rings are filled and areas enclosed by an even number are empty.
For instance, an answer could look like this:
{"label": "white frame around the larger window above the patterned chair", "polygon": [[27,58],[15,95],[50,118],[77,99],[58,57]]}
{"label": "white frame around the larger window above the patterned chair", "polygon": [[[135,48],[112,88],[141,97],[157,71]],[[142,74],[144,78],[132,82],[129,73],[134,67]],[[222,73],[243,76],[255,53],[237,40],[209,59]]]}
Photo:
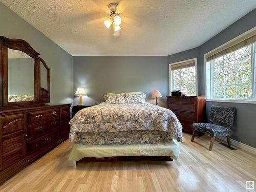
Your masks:
{"label": "white frame around the larger window above the patterned chair", "polygon": [[[207,66],[207,60],[206,60],[206,56],[209,55],[211,52],[215,52],[218,49],[221,49],[222,47],[225,47],[227,44],[230,44],[233,41],[236,41],[237,39],[247,35],[248,33],[251,33],[253,31],[256,30],[256,27],[252,28],[251,30],[246,31],[245,33],[227,41],[225,44],[215,48],[214,50],[211,50],[207,53],[204,54],[204,87],[205,87],[205,95],[206,95],[206,101],[212,101],[212,102],[232,102],[232,103],[252,103],[252,104],[256,104],[256,91],[253,93],[254,98],[250,98],[250,99],[238,99],[238,98],[212,98],[212,80],[213,78],[211,77],[211,70],[210,65]],[[255,46],[256,47],[256,46]],[[254,54],[251,54],[252,59],[254,59],[254,69],[252,68],[252,78],[254,78],[254,84],[252,83],[252,89],[255,90],[255,86],[256,86],[256,58],[254,57]],[[253,79],[252,79],[253,80]]]}

